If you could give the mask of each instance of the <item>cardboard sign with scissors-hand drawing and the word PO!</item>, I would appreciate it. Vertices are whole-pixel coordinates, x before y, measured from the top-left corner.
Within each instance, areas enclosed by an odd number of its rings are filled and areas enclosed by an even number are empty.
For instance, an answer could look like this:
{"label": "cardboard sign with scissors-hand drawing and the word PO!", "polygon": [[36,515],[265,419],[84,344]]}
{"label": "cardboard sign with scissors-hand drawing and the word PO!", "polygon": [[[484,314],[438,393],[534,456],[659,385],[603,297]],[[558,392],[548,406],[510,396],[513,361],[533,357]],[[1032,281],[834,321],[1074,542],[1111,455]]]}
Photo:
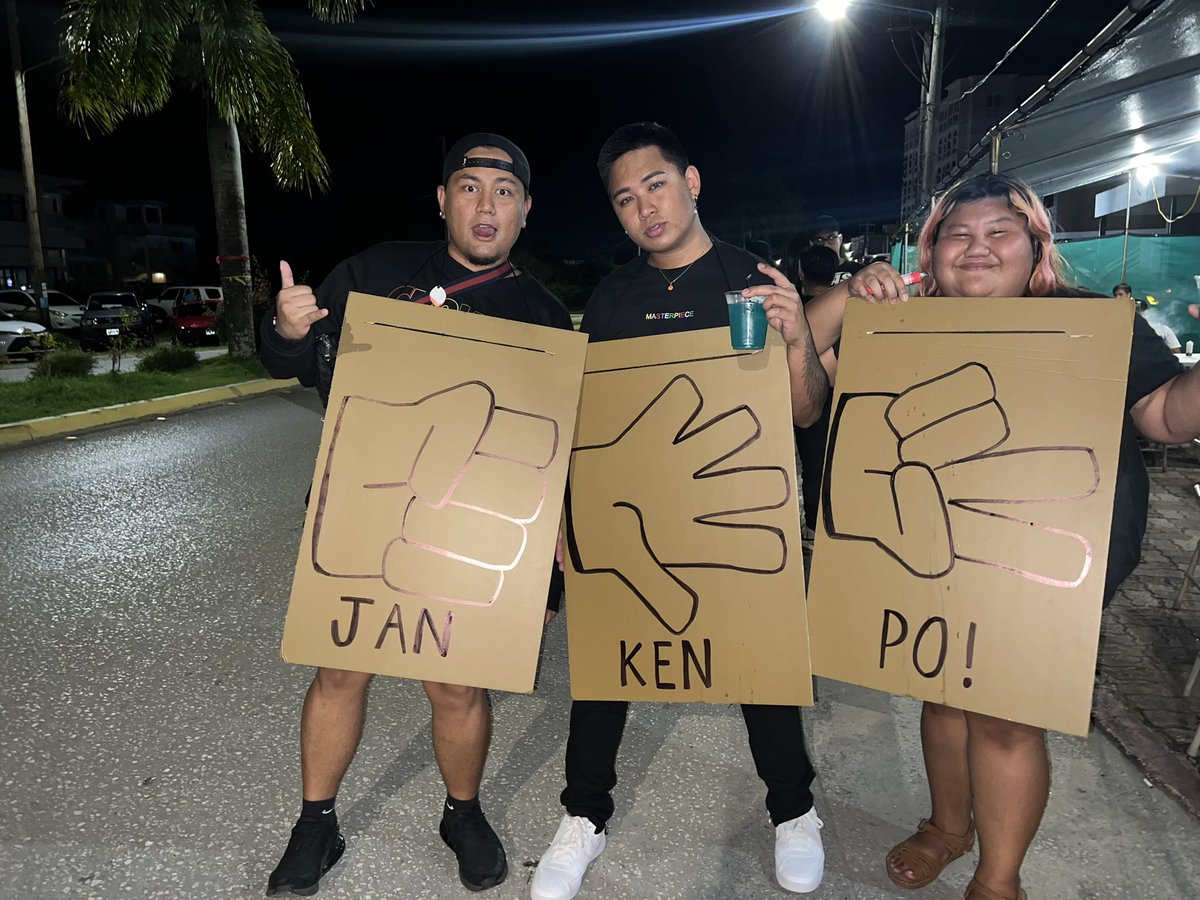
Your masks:
{"label": "cardboard sign with scissors-hand drawing and the word PO!", "polygon": [[1133,307],[847,306],[817,674],[1086,734]]}

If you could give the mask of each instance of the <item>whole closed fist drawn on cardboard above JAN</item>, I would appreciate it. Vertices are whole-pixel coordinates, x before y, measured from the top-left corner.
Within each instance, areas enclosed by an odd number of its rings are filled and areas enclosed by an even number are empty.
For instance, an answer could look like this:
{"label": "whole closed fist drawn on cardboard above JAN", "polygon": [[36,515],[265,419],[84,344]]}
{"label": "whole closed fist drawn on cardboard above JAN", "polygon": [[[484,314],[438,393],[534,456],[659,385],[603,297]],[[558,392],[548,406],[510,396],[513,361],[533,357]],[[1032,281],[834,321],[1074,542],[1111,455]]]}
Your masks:
{"label": "whole closed fist drawn on cardboard above JAN", "polygon": [[557,424],[497,406],[482,382],[412,403],[346,397],[336,415],[314,568],[404,594],[494,602],[545,505]]}

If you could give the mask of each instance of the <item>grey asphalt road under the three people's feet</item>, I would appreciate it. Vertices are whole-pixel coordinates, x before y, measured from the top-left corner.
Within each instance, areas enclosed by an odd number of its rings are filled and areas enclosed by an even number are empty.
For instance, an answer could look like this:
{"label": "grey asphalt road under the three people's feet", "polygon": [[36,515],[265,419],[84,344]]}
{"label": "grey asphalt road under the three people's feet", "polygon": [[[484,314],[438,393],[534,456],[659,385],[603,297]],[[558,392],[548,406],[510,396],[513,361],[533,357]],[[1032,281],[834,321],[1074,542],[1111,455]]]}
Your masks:
{"label": "grey asphalt road under the three people's feet", "polygon": [[[308,391],[0,452],[0,896],[257,898],[299,808],[310,679],[278,659],[320,416]],[[562,617],[538,690],[493,696],[484,803],[528,896],[560,816]],[[928,814],[917,704],[828,682],[805,713],[826,881],[894,898],[883,854]],[[1049,898],[1192,898],[1200,826],[1103,736],[1051,736],[1025,881]],[[780,898],[734,707],[638,704],[608,848],[581,900]],[[420,686],[378,679],[326,900],[466,898]],[[922,892],[960,898],[977,857]]]}

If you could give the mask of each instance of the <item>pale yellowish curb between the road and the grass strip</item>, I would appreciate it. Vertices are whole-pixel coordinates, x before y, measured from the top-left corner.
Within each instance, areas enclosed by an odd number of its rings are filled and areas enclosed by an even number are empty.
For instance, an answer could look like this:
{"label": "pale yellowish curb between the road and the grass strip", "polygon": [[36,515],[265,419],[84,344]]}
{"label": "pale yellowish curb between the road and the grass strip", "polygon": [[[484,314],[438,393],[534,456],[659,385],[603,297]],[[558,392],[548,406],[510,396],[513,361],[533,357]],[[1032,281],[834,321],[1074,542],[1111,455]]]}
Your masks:
{"label": "pale yellowish curb between the road and the grass strip", "polygon": [[112,425],[121,425],[152,415],[167,415],[185,409],[215,406],[230,400],[286,391],[299,386],[300,383],[294,378],[288,380],[257,378],[252,382],[239,382],[238,384],[226,384],[218,388],[203,388],[198,391],[188,391],[187,394],[174,394],[169,397],[137,400],[132,403],[118,403],[116,406],[100,407],[98,409],[84,409],[79,413],[50,415],[44,419],[26,419],[23,422],[0,425],[0,448],[18,446],[35,440],[61,437],[62,434],[76,434],[82,431],[106,428]]}

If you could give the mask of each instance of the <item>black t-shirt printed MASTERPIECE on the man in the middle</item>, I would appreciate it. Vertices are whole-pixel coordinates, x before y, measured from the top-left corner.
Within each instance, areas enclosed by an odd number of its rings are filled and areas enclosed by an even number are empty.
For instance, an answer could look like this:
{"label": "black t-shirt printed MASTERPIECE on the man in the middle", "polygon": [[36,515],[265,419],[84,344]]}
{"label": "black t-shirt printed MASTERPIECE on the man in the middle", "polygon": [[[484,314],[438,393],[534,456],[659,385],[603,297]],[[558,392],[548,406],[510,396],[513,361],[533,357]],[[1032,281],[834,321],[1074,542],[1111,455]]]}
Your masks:
{"label": "black t-shirt printed MASTERPIECE on the man in the middle", "polygon": [[[596,284],[580,330],[590,341],[619,341],[728,328],[725,292],[770,284],[770,278],[757,269],[762,262],[715,238],[709,251],[686,271],[655,269],[648,256],[638,257]],[[677,276],[673,289],[667,290],[668,280]]]}

